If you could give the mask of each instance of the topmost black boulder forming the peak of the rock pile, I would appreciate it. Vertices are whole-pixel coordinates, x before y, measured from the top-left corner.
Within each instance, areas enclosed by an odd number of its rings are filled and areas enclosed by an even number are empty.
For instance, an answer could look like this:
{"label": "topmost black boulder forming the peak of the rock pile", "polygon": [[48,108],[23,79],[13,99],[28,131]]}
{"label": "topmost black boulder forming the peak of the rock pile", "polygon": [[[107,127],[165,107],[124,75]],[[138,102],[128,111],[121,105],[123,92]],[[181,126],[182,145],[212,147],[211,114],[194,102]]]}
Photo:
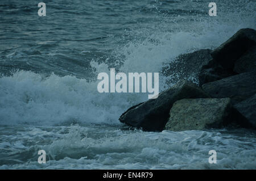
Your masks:
{"label": "topmost black boulder forming the peak of the rock pile", "polygon": [[245,28],[213,50],[211,55],[224,69],[233,70],[235,61],[254,45],[256,45],[256,31]]}

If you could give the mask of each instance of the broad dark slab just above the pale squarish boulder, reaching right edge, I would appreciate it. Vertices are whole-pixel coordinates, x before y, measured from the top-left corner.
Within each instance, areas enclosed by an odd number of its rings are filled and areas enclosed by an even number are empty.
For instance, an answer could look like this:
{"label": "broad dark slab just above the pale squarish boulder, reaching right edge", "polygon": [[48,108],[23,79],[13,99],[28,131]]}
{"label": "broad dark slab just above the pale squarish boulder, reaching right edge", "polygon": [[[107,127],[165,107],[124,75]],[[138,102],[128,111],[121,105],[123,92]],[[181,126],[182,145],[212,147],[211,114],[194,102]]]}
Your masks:
{"label": "broad dark slab just above the pale squarish boulder, reaching right edge", "polygon": [[256,93],[256,71],[205,83],[202,88],[212,98],[230,98],[236,104]]}

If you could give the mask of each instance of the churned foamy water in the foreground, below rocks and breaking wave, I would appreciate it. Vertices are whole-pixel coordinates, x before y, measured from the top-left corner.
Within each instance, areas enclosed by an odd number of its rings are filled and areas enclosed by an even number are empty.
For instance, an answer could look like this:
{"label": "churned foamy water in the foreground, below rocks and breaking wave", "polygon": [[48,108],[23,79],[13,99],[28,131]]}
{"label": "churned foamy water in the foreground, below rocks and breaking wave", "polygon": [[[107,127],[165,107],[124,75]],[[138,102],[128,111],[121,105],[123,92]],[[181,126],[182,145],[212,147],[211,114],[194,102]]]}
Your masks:
{"label": "churned foamy water in the foreground, below rocks and breaking wave", "polygon": [[[161,133],[77,125],[26,129],[3,137],[1,149],[12,149],[13,164],[4,165],[2,159],[0,169],[255,169],[256,165],[256,135],[250,131],[245,135],[241,129]],[[47,153],[47,164],[37,163],[40,149]],[[217,151],[217,164],[208,162],[212,149]]]}

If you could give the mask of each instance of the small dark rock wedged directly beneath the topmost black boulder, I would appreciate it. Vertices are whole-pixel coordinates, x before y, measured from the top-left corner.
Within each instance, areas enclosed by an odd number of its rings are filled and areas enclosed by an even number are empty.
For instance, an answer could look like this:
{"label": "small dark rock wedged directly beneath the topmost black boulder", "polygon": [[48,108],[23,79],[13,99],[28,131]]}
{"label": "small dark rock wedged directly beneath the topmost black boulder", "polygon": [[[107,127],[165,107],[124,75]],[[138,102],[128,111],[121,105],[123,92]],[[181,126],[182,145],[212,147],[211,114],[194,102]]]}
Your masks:
{"label": "small dark rock wedged directly beneath the topmost black boulder", "polygon": [[211,60],[208,65],[203,66],[199,73],[199,86],[204,83],[218,81],[232,75],[236,75],[236,73],[230,70],[225,70],[216,61]]}

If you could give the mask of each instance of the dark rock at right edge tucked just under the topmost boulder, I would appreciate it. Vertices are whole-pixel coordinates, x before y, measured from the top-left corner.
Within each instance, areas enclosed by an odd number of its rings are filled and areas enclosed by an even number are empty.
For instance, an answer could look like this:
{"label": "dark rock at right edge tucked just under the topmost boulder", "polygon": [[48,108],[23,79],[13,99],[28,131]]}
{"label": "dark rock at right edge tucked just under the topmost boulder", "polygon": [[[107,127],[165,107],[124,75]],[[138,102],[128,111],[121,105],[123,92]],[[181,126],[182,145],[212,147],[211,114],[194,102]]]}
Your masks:
{"label": "dark rock at right edge tucked just under the topmost boulder", "polygon": [[236,73],[244,73],[251,70],[256,70],[256,46],[247,50],[234,64]]}

